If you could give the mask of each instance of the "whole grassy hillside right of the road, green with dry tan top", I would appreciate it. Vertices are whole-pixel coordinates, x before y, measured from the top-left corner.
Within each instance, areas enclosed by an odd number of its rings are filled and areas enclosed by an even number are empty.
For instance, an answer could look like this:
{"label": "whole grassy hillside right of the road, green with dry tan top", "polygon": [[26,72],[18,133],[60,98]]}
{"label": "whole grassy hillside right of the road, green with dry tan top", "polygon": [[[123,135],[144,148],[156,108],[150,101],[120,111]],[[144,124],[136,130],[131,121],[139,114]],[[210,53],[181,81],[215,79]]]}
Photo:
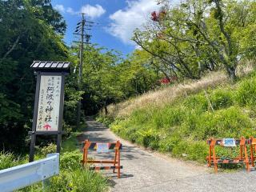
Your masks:
{"label": "whole grassy hillside right of the road, green with dry tan top", "polygon": [[[100,120],[131,142],[176,158],[204,162],[206,139],[256,136],[255,106],[255,72],[235,83],[217,73],[110,106],[109,116]],[[222,155],[237,152],[217,151]]]}

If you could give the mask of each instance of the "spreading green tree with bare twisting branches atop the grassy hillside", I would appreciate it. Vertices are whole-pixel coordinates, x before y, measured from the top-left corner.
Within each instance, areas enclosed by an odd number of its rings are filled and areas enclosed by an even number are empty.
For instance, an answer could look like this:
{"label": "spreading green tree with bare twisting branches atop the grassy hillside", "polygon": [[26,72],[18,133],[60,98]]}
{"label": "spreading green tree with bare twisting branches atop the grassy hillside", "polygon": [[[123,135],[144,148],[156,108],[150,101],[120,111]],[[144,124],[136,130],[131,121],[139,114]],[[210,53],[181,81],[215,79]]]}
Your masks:
{"label": "spreading green tree with bare twisting branches atop the grassy hillside", "polygon": [[254,1],[186,0],[152,16],[154,22],[135,31],[134,41],[166,71],[200,78],[207,70],[224,68],[235,79],[239,60],[255,53]]}

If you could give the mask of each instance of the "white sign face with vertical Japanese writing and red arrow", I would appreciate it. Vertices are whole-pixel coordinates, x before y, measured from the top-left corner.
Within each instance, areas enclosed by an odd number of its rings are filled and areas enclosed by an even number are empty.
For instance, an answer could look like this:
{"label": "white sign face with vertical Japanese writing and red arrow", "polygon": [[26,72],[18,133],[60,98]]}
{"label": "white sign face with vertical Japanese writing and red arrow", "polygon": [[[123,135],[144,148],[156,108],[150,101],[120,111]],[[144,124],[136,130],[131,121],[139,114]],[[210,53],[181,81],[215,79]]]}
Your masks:
{"label": "white sign face with vertical Japanese writing and red arrow", "polygon": [[62,76],[42,75],[38,99],[37,131],[58,130]]}

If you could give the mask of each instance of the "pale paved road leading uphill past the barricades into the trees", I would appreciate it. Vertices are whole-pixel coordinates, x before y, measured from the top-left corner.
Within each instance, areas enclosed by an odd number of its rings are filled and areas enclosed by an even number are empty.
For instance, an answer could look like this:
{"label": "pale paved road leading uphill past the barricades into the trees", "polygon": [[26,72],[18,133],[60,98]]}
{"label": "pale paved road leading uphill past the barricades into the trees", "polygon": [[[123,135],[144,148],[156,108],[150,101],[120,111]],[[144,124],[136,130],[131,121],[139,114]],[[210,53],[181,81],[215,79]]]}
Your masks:
{"label": "pale paved road leading uphill past the barricades into the trees", "polygon": [[[87,121],[84,138],[95,142],[113,142],[117,138],[101,123]],[[121,140],[121,139],[120,139]],[[212,174],[211,170],[187,162],[167,158],[142,150],[121,140],[122,178],[116,178],[111,171],[104,171],[110,178],[112,191],[118,192],[169,192],[169,191],[256,191],[256,171],[247,173]],[[91,154],[93,158],[109,158],[110,154]],[[113,156],[112,156],[113,157]]]}

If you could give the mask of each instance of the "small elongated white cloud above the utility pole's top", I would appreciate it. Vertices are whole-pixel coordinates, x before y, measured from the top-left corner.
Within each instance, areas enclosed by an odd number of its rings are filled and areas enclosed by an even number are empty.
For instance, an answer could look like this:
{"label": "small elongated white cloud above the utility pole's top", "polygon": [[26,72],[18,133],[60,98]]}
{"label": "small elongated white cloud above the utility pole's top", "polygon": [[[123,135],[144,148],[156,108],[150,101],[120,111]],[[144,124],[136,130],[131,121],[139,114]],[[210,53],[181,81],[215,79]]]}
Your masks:
{"label": "small elongated white cloud above the utility pole's top", "polygon": [[75,11],[71,7],[66,8],[63,5],[56,5],[54,6],[54,9],[58,10],[61,13],[67,13],[67,14],[73,14],[73,15],[84,13],[86,14],[87,17],[90,17],[90,18],[99,18],[102,16],[102,14],[106,13],[106,10],[98,4],[95,6],[90,6],[87,4],[85,6],[82,6],[79,11]]}

